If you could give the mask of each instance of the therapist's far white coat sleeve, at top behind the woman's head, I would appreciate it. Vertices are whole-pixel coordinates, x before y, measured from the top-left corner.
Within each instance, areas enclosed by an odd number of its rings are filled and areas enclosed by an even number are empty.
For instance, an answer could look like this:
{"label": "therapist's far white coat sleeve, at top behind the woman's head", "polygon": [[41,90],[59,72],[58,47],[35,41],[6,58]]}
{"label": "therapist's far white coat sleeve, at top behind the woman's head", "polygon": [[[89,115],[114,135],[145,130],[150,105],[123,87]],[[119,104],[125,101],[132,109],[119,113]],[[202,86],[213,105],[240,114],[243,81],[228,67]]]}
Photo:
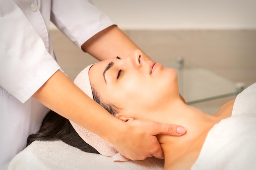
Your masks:
{"label": "therapist's far white coat sleeve, at top behind the woman's head", "polygon": [[52,0],[51,21],[76,46],[114,24],[89,0]]}

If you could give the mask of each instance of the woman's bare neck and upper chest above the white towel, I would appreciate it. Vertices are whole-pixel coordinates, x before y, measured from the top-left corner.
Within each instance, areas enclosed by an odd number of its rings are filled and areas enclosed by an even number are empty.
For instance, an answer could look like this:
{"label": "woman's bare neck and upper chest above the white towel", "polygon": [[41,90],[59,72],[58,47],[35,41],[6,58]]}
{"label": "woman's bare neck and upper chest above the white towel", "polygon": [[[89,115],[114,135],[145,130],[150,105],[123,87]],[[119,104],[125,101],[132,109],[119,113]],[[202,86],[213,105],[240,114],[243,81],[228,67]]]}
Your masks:
{"label": "woman's bare neck and upper chest above the white towel", "polygon": [[[162,107],[157,112],[159,111],[161,114],[158,114],[155,121],[178,124],[186,128],[186,134],[182,137],[157,136],[164,150],[165,167],[175,166],[182,161],[186,162],[183,166],[190,168],[197,159],[209,130],[224,118],[203,113],[197,108],[184,104],[181,100],[172,101],[171,104]],[[186,157],[188,159],[184,161]]]}

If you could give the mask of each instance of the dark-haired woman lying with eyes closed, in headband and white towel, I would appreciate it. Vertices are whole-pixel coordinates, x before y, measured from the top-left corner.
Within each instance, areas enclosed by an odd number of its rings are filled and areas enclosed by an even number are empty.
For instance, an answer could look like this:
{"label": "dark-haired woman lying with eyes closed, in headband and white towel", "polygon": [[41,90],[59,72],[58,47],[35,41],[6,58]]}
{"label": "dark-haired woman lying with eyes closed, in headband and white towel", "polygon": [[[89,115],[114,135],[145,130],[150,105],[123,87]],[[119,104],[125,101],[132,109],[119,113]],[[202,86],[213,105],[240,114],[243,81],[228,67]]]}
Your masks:
{"label": "dark-haired woman lying with eyes closed, in headband and white towel", "polygon": [[[85,83],[88,75],[90,84]],[[74,83],[123,121],[150,119],[184,126],[186,134],[181,137],[157,136],[166,170],[256,169],[256,84],[240,93],[236,101],[224,104],[215,115],[208,115],[182,101],[177,73],[172,68],[146,62],[139,50],[128,57],[88,66]],[[79,140],[71,124],[83,140]],[[107,156],[117,153],[105,141],[99,143],[101,139],[94,134],[71,124],[50,112],[38,134],[29,136],[28,144],[34,140],[61,139],[86,152],[98,150]]]}

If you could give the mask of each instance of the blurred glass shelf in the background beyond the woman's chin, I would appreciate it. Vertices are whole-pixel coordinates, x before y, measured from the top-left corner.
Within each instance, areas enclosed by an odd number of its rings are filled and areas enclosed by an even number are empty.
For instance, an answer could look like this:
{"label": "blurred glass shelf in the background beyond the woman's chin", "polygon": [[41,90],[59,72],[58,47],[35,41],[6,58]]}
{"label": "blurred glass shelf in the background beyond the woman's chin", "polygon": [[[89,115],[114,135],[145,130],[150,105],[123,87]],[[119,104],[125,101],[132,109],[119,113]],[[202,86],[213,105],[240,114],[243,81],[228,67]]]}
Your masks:
{"label": "blurred glass shelf in the background beyond the woman's chin", "polygon": [[163,65],[177,71],[180,93],[187,104],[237,95],[243,90],[243,84],[233,82],[182,58],[177,58],[176,62],[164,62]]}

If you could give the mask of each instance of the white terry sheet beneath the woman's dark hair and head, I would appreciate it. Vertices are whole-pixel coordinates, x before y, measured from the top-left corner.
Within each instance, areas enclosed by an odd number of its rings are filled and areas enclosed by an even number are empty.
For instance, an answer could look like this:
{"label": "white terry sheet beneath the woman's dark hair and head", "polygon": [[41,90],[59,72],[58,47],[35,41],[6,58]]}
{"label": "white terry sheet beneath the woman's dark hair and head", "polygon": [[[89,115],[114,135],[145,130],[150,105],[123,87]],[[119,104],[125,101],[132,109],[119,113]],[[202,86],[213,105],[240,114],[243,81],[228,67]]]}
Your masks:
{"label": "white terry sheet beneath the woman's dark hair and head", "polygon": [[163,170],[164,160],[114,162],[112,157],[83,152],[62,141],[34,141],[9,163],[9,170]]}

